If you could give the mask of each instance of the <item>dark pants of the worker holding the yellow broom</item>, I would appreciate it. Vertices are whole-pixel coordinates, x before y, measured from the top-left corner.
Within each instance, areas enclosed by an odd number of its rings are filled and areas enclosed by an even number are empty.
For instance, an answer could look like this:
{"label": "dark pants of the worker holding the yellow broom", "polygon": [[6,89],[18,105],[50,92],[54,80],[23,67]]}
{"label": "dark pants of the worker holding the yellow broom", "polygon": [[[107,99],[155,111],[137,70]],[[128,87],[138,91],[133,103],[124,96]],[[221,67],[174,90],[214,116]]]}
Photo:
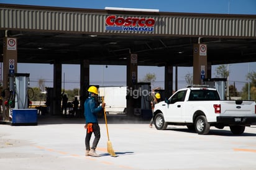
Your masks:
{"label": "dark pants of the worker holding the yellow broom", "polygon": [[85,136],[85,148],[86,150],[90,150],[89,146],[89,141],[91,140],[91,135],[94,133],[94,140],[93,140],[93,146],[91,146],[91,149],[95,150],[98,143],[99,143],[99,138],[101,138],[101,131],[99,129],[99,124],[98,123],[93,123],[93,132],[87,133],[86,130],[86,136]]}

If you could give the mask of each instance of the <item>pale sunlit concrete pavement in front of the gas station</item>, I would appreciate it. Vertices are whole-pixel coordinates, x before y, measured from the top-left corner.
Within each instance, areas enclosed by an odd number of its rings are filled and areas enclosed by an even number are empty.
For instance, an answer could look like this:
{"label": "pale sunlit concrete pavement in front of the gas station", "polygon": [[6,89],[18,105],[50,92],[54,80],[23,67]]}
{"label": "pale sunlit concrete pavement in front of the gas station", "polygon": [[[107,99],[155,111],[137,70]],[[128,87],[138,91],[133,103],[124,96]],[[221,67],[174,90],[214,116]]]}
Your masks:
{"label": "pale sunlit concrete pavement in front of the gas station", "polygon": [[[100,119],[99,158],[85,156],[85,120],[40,116],[37,126],[0,125],[1,169],[255,169],[256,126],[243,135],[211,127],[198,135],[186,127],[149,128],[149,120],[107,115],[116,158],[107,153]],[[94,136],[93,136],[94,137]],[[93,139],[92,139],[93,140]],[[91,140],[91,141],[92,141]]]}

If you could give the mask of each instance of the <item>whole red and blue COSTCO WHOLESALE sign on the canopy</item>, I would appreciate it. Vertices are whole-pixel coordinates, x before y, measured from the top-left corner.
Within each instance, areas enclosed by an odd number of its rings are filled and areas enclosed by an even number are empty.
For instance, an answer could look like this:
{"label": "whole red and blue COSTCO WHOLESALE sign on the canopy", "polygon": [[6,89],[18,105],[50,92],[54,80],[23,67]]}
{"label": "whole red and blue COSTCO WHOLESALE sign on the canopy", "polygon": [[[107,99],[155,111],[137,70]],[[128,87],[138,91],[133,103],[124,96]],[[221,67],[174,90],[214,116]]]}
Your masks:
{"label": "whole red and blue COSTCO WHOLESALE sign on the canopy", "polygon": [[153,32],[155,19],[152,18],[137,18],[137,17],[116,17],[108,16],[105,20],[106,30],[119,31],[143,31]]}

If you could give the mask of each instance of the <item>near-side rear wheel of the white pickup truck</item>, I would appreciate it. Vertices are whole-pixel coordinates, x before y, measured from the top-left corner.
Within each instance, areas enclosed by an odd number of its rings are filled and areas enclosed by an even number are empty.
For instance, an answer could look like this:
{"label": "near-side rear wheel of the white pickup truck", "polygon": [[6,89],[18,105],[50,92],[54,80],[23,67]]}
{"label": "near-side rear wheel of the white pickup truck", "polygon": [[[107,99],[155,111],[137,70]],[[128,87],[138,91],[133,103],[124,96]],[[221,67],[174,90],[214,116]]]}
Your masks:
{"label": "near-side rear wheel of the white pickup truck", "polygon": [[199,135],[205,135],[209,133],[210,125],[204,115],[199,115],[194,123],[194,128]]}

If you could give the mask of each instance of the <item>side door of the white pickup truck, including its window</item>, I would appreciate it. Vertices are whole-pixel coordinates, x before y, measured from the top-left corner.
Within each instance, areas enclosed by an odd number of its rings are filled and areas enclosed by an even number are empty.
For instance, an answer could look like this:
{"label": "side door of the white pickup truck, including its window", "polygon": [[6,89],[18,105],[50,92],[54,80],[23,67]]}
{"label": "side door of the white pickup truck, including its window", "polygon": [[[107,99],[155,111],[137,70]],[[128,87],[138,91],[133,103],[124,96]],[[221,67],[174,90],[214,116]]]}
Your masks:
{"label": "side door of the white pickup truck, including its window", "polygon": [[168,122],[184,122],[182,119],[183,103],[186,96],[185,91],[176,92],[170,99],[166,110],[166,120]]}

